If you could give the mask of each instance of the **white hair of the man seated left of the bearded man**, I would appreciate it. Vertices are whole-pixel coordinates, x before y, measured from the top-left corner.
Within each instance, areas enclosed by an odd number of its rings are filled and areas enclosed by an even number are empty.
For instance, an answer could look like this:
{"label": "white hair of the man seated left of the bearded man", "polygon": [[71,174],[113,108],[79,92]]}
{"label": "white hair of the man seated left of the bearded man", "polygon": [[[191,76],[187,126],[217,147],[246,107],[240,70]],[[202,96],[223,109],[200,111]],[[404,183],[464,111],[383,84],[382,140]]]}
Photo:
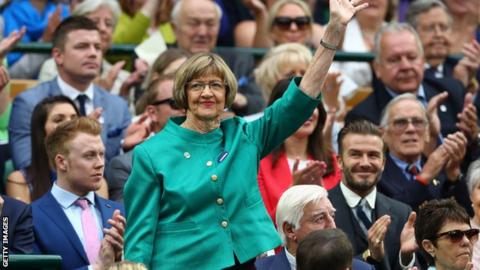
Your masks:
{"label": "white hair of the man seated left of the bearded man", "polygon": [[294,228],[298,228],[305,206],[309,203],[317,203],[327,197],[327,191],[319,185],[295,185],[282,194],[278,200],[275,219],[278,234],[282,238],[283,243],[287,243],[283,224],[287,222]]}

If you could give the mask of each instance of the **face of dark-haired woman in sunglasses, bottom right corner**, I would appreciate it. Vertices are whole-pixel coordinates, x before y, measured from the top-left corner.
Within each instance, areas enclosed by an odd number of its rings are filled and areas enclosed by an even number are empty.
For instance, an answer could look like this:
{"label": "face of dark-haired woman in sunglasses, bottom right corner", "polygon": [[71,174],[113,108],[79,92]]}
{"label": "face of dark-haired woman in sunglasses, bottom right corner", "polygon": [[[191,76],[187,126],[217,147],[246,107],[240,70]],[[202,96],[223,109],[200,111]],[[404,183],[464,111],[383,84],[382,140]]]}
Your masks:
{"label": "face of dark-haired woman in sunglasses, bottom right corner", "polygon": [[[465,231],[469,229],[470,225],[468,224],[447,221],[438,234],[453,230]],[[434,255],[432,257],[434,257],[437,269],[464,270],[467,263],[472,260],[473,243],[466,236],[463,236],[458,242],[453,241],[448,236],[442,236],[436,242],[436,246],[432,245],[431,250],[426,250],[430,255]]]}

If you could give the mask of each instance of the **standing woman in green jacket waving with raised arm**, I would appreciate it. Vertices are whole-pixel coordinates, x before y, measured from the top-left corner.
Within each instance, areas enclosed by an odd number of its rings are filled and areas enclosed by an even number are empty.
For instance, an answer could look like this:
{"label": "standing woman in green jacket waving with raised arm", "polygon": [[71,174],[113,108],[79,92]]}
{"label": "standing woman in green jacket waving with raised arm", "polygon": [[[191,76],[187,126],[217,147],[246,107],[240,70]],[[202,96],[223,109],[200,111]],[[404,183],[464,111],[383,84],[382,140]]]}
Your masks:
{"label": "standing woman in green jacket waving with raised arm", "polygon": [[330,22],[303,79],[253,122],[222,120],[236,79],[217,55],[197,54],[177,71],[174,94],[186,117],[134,150],[125,186],[125,257],[149,269],[254,269],[281,244],[257,186],[260,159],[312,114],[361,0],[330,0]]}

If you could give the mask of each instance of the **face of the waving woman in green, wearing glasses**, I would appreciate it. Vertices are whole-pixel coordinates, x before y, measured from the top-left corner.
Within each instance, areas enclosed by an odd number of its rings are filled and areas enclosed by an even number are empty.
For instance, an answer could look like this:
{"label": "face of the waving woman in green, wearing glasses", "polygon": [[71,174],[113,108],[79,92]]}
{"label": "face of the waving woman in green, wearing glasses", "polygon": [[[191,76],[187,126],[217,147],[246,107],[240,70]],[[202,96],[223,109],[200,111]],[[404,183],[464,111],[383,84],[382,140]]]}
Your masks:
{"label": "face of the waving woman in green, wearing glasses", "polygon": [[218,119],[225,108],[226,88],[224,81],[216,75],[206,75],[191,80],[187,89],[187,118],[201,121]]}

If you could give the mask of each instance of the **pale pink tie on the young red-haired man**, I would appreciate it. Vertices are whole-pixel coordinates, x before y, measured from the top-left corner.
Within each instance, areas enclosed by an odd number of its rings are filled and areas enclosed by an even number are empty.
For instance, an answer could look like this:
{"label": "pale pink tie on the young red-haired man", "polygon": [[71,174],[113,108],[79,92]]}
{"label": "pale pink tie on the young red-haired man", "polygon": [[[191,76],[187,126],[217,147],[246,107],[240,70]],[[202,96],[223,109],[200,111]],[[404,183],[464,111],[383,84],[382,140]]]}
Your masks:
{"label": "pale pink tie on the young red-haired man", "polygon": [[94,213],[90,210],[86,199],[79,198],[75,204],[82,208],[82,229],[83,239],[85,241],[85,251],[87,252],[90,264],[93,264],[95,263],[100,250],[97,222],[95,221],[93,216]]}

